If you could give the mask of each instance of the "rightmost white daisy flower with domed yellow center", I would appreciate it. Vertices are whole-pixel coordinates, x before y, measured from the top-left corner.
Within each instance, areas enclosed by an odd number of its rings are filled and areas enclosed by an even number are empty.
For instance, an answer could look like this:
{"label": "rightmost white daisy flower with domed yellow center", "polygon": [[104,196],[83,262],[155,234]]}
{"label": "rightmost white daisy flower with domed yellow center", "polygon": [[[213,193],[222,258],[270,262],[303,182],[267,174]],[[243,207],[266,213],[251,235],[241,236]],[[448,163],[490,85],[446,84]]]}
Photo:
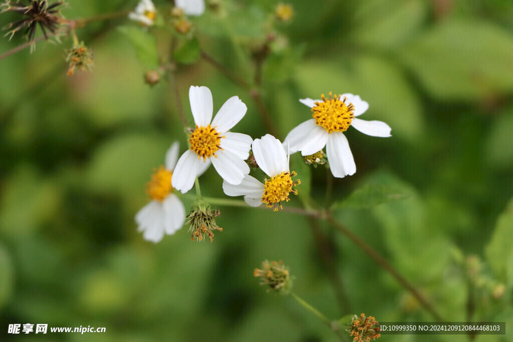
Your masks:
{"label": "rightmost white daisy flower with domed yellow center", "polygon": [[382,121],[366,121],[356,117],[369,108],[369,104],[359,95],[348,93],[332,98],[330,92],[329,99],[324,95],[321,98],[299,100],[312,109],[313,118],[292,129],[285,143],[289,144],[291,152],[301,151],[302,155],[314,154],[326,146],[333,176],[342,178],[352,175],[356,172],[356,165],[343,132],[353,126],[367,135],[387,137],[391,136],[391,128]]}

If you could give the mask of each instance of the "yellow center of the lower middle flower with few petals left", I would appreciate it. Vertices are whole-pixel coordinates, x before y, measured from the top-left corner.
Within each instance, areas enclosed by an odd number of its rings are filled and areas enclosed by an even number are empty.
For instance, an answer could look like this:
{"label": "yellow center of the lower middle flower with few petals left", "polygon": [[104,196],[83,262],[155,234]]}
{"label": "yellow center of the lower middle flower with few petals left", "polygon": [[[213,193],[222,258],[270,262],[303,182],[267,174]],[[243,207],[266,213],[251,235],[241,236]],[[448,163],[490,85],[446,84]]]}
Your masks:
{"label": "yellow center of the lower middle flower with few petals left", "polygon": [[262,202],[266,204],[266,207],[273,208],[272,211],[278,211],[278,206],[283,209],[281,201],[285,200],[288,202],[290,198],[289,193],[294,195],[298,194],[298,190],[292,189],[293,186],[301,184],[301,180],[295,180],[292,182],[292,177],[296,173],[292,171],[283,171],[279,175],[271,177],[271,179],[265,180],[265,189],[262,193]]}

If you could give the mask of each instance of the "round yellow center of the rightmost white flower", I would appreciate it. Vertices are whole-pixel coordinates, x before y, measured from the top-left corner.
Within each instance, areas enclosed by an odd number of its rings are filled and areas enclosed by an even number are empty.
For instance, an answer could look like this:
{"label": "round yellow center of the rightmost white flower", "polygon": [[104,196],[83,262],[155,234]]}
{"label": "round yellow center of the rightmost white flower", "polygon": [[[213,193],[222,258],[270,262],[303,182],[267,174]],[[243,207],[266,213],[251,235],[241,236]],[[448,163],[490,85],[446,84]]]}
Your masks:
{"label": "round yellow center of the rightmost white flower", "polygon": [[340,96],[335,95],[329,99],[321,95],[322,102],[315,102],[312,108],[312,117],[315,119],[315,125],[323,127],[329,134],[331,132],[344,132],[351,126],[354,119],[354,106],[352,103],[346,103],[347,97],[342,100]]}

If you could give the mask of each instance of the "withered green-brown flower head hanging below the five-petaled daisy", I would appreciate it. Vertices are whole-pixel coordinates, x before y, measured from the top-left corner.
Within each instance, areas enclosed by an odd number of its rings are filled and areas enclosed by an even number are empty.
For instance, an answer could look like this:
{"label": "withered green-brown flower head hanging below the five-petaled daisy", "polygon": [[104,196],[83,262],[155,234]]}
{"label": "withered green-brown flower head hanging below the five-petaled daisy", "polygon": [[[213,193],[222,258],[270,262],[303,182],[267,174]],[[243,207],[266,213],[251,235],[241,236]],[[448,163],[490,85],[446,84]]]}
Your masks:
{"label": "withered green-brown flower head hanging below the five-petaled daisy", "polygon": [[189,232],[191,232],[191,240],[202,241],[205,235],[207,235],[210,242],[212,242],[214,238],[212,231],[223,231],[223,228],[219,227],[214,219],[214,217],[220,215],[220,211],[212,211],[210,206],[203,199],[197,199],[192,205],[192,208],[191,213],[187,217],[189,219],[187,225],[190,225]]}

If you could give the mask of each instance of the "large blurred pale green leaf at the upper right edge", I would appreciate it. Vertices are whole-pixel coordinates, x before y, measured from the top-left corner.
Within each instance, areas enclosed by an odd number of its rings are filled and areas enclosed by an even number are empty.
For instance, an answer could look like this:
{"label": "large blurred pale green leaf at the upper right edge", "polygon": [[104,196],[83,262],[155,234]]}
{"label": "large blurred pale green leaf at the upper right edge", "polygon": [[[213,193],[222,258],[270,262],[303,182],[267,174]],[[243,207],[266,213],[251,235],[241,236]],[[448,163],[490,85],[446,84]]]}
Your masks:
{"label": "large blurred pale green leaf at the upper right edge", "polygon": [[513,35],[479,19],[444,21],[400,57],[439,99],[477,102],[513,90]]}

